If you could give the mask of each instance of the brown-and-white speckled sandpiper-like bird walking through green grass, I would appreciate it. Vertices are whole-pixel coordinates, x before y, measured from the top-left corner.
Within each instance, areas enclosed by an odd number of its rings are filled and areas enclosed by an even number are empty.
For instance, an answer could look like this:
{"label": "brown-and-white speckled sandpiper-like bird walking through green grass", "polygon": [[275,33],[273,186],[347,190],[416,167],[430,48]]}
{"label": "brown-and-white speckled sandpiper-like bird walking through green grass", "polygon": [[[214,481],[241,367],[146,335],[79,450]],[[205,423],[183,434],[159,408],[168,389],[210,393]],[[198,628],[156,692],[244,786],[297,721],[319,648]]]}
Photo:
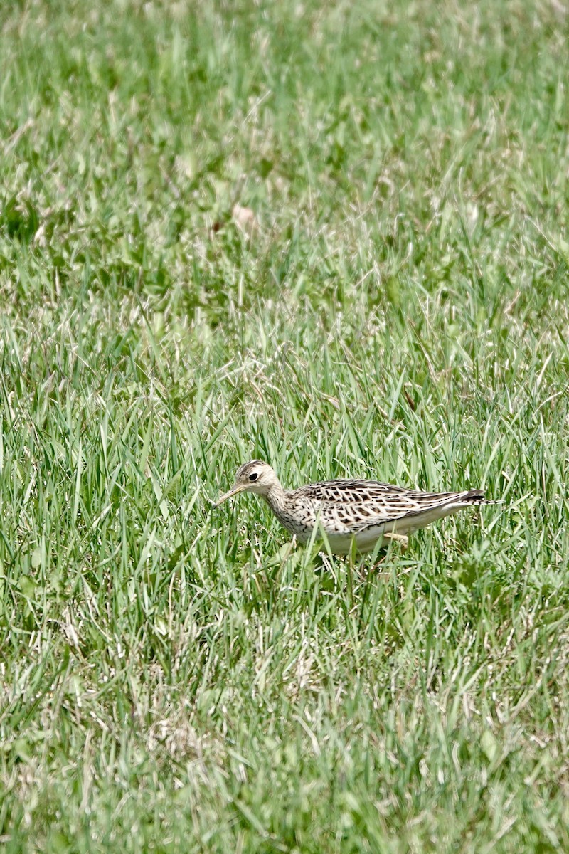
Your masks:
{"label": "brown-and-white speckled sandpiper-like bird walking through green grass", "polygon": [[276,472],[262,459],[252,459],[237,470],[235,483],[217,501],[223,504],[240,492],[260,495],[279,522],[303,544],[315,527],[323,530],[333,554],[373,552],[398,541],[404,548],[409,534],[462,510],[493,504],[481,489],[462,492],[421,492],[374,480],[333,480],[284,489]]}

